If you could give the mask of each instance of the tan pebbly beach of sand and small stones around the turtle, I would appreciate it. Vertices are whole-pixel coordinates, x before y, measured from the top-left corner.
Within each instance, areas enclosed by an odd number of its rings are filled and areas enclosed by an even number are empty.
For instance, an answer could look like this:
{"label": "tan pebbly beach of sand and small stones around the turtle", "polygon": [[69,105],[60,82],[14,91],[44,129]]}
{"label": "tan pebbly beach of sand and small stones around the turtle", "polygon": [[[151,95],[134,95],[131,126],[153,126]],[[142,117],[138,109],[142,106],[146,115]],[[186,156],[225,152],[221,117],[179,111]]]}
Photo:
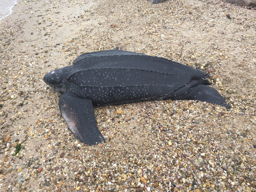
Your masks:
{"label": "tan pebbly beach of sand and small stones around the turtle", "polygon": [[[217,0],[18,0],[0,20],[0,191],[256,191],[256,8]],[[133,51],[209,73],[231,109],[192,100],[95,107],[79,142],[42,77]]]}

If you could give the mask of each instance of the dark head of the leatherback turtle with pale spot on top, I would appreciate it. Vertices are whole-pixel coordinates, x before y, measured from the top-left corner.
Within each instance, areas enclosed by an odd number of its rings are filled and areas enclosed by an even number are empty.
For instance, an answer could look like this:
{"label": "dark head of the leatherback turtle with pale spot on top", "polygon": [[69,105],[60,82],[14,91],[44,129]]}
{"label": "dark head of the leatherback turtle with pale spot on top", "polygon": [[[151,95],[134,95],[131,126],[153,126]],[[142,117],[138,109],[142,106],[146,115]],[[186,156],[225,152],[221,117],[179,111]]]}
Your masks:
{"label": "dark head of the leatherback turtle with pale spot on top", "polygon": [[64,93],[67,88],[67,77],[70,74],[70,66],[56,69],[44,76],[44,81],[54,91]]}

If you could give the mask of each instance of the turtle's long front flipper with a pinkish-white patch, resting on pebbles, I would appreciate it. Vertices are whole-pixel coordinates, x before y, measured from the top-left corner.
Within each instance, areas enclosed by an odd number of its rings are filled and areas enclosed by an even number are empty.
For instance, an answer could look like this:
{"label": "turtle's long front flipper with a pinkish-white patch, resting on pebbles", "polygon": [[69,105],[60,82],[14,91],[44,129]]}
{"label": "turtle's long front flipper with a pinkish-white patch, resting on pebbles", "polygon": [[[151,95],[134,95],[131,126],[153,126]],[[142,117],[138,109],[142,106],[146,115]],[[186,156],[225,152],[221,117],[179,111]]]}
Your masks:
{"label": "turtle's long front flipper with a pinkish-white patch, resting on pebbles", "polygon": [[59,109],[74,136],[88,145],[105,142],[101,135],[90,99],[66,91],[59,98]]}

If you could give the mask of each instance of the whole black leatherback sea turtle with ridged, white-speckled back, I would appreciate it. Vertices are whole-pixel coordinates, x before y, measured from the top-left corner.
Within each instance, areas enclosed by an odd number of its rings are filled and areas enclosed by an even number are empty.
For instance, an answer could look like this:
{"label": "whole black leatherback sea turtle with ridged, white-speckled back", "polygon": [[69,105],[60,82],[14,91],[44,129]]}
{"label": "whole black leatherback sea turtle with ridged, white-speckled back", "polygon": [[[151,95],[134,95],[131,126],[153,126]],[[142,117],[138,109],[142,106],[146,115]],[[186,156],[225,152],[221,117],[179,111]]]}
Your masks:
{"label": "whole black leatherback sea turtle with ridged, white-speckled back", "polygon": [[94,145],[105,140],[93,105],[191,99],[229,108],[219,92],[207,86],[207,76],[165,58],[111,50],[82,54],[72,66],[46,74],[44,81],[63,93],[59,109],[75,137]]}

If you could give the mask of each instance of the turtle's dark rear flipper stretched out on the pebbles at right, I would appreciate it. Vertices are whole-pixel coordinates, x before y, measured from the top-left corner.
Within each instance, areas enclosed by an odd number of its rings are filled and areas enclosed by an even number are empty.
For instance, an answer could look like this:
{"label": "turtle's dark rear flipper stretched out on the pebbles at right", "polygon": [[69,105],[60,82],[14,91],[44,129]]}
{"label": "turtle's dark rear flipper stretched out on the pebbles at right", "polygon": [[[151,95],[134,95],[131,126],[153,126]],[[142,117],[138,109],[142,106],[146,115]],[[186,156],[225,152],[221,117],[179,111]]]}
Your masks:
{"label": "turtle's dark rear flipper stretched out on the pebbles at right", "polygon": [[206,101],[208,103],[218,104],[230,109],[230,105],[226,104],[225,98],[222,97],[216,89],[204,84],[198,84],[197,86],[192,87],[181,95],[179,99]]}

